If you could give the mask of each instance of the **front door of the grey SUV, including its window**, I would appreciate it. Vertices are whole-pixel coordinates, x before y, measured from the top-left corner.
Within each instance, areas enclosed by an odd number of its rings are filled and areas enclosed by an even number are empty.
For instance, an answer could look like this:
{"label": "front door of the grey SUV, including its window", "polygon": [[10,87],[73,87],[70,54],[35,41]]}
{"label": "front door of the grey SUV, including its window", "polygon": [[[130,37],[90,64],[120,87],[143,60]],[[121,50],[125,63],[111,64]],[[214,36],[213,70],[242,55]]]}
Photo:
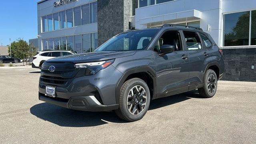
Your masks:
{"label": "front door of the grey SUV, including its window", "polygon": [[[168,30],[154,46],[157,98],[188,91],[189,57],[187,51],[183,49],[180,36],[180,31]],[[160,54],[160,47],[164,44],[173,45],[175,51]]]}

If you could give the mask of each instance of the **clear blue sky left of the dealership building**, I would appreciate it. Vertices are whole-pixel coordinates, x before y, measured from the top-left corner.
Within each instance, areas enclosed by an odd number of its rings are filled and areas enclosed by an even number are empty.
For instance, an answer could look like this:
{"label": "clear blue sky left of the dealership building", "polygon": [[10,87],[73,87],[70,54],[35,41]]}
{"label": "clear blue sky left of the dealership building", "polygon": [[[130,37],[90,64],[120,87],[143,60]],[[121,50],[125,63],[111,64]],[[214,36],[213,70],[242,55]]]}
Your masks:
{"label": "clear blue sky left of the dealership building", "polygon": [[0,45],[6,46],[17,38],[37,36],[37,4],[39,0],[1,0]]}

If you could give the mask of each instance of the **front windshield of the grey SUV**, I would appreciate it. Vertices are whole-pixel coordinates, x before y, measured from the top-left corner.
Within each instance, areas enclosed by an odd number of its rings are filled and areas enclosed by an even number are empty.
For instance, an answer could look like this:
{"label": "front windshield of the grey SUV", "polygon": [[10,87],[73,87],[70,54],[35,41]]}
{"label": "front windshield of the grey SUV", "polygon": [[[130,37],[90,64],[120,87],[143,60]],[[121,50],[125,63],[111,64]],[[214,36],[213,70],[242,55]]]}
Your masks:
{"label": "front windshield of the grey SUV", "polygon": [[122,33],[108,40],[95,52],[145,50],[157,32],[158,29],[148,29]]}

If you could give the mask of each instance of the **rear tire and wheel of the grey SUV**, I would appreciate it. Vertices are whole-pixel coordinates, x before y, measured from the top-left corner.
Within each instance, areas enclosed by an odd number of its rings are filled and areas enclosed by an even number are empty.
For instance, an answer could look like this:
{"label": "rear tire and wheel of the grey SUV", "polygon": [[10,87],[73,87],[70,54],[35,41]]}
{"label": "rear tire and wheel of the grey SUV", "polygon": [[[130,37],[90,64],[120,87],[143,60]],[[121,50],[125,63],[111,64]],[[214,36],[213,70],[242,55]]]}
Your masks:
{"label": "rear tire and wheel of the grey SUV", "polygon": [[218,87],[218,77],[214,70],[207,70],[204,76],[204,86],[198,88],[199,94],[204,98],[212,98]]}

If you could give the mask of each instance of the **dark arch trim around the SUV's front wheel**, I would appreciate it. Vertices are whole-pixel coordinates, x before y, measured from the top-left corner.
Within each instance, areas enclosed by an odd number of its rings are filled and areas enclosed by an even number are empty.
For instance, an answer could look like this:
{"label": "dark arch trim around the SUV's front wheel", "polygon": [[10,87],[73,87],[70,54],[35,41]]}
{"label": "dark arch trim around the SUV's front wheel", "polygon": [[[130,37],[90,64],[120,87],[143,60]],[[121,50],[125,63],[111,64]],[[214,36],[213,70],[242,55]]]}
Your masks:
{"label": "dark arch trim around the SUV's front wheel", "polygon": [[116,85],[116,104],[119,104],[119,97],[120,97],[120,89],[122,85],[124,84],[126,78],[128,78],[129,75],[138,73],[138,72],[146,72],[152,79],[153,79],[153,96],[152,99],[156,99],[156,76],[154,74],[154,69],[150,68],[149,66],[143,66],[138,68],[132,68],[130,70],[127,70],[124,72],[123,76],[120,78]]}

